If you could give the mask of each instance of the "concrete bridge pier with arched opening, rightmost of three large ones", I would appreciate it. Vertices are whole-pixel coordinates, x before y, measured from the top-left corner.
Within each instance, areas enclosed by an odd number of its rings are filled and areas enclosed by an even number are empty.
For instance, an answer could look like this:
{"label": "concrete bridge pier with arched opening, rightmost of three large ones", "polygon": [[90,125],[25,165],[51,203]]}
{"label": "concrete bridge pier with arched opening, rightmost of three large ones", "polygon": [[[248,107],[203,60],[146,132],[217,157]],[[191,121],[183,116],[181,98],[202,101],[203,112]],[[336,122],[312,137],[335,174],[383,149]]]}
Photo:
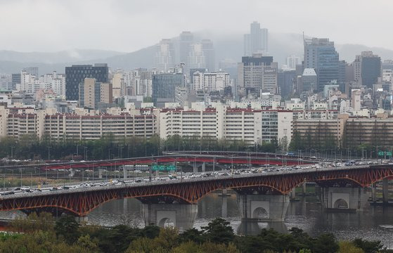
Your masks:
{"label": "concrete bridge pier with arched opening, rightmost of three large ones", "polygon": [[323,187],[321,202],[325,209],[361,212],[368,205],[368,193],[361,187]]}

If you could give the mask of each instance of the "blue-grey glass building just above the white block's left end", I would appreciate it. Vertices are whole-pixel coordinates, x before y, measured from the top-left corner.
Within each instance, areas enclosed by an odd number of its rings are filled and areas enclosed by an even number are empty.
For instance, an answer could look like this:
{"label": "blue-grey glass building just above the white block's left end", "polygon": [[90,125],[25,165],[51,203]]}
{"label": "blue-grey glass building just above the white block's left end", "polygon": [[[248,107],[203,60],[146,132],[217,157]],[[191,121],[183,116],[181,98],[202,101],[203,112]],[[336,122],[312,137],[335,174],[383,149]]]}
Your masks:
{"label": "blue-grey glass building just above the white block's left end", "polygon": [[186,86],[182,73],[161,73],[152,76],[152,98],[157,107],[165,103],[174,103],[176,86]]}

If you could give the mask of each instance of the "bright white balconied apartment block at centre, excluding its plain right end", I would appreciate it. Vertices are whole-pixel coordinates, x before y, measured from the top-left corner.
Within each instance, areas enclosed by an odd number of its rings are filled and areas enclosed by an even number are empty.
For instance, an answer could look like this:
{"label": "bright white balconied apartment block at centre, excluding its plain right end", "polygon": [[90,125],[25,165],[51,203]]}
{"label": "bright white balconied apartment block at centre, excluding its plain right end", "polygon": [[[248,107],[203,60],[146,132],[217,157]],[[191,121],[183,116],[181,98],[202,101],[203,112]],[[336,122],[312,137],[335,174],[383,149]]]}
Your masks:
{"label": "bright white balconied apartment block at centre, excluding its plain right end", "polygon": [[160,112],[160,136],[210,137],[261,143],[261,112],[224,106],[205,110],[163,109]]}

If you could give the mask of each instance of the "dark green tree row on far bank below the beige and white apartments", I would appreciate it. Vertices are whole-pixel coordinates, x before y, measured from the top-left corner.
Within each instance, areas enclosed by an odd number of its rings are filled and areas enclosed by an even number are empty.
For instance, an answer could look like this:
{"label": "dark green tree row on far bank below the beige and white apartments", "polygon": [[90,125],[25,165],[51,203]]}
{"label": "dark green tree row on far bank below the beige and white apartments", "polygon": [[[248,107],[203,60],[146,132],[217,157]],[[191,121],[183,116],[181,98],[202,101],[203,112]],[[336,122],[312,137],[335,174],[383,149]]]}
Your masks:
{"label": "dark green tree row on far bank below the beige and white apartments", "polygon": [[0,157],[32,160],[93,160],[113,159],[115,157],[142,157],[160,155],[165,150],[224,150],[275,152],[276,143],[266,143],[250,147],[244,141],[200,138],[198,136],[169,136],[166,140],[159,136],[141,138],[132,136],[118,139],[112,135],[98,140],[53,140],[44,136],[20,136],[20,138],[1,138]]}

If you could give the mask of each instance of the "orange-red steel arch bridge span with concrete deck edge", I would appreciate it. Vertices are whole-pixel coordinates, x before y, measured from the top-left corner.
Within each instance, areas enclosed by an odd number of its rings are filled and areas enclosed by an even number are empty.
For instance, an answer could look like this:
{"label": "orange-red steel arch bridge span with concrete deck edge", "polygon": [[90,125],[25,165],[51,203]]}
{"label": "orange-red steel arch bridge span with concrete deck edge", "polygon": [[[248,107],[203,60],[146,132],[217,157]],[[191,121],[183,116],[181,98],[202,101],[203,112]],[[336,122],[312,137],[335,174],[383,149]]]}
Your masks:
{"label": "orange-red steel arch bridge span with concrete deck edge", "polygon": [[0,211],[46,210],[53,212],[53,209],[59,209],[61,212],[69,212],[75,216],[86,216],[105,202],[127,197],[135,197],[142,202],[176,200],[195,204],[208,193],[224,188],[232,188],[240,194],[257,191],[268,195],[288,195],[293,188],[304,182],[315,182],[323,187],[339,186],[360,189],[392,176],[393,166],[362,165],[123,183],[122,185],[4,195],[0,198]]}

